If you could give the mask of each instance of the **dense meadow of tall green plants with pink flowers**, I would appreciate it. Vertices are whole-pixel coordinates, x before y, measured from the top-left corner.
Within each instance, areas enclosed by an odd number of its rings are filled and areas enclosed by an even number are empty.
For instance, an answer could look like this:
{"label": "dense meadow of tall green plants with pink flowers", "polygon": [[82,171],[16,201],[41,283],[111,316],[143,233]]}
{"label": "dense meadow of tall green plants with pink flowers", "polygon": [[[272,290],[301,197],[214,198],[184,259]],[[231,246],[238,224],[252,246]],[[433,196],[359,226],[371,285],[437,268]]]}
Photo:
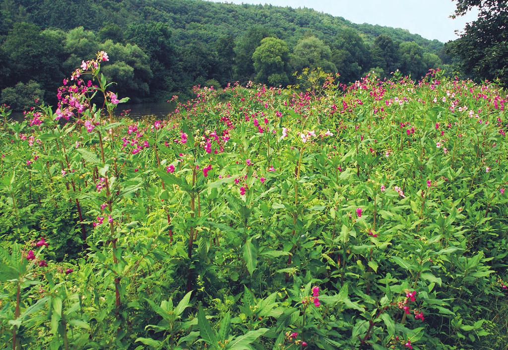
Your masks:
{"label": "dense meadow of tall green plants with pink flowers", "polygon": [[305,72],[118,120],[107,61],[0,109],[1,349],[508,346],[502,89]]}

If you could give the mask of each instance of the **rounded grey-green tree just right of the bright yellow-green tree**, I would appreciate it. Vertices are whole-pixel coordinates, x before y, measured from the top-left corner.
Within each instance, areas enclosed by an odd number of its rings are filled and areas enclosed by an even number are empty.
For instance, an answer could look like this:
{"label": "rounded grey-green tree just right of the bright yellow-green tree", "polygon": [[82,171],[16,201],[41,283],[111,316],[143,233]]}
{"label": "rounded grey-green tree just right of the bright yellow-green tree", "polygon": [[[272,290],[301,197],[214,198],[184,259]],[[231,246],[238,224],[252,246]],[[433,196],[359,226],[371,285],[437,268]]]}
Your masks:
{"label": "rounded grey-green tree just right of the bright yellow-green tree", "polygon": [[301,39],[296,44],[291,56],[293,71],[301,72],[304,68],[322,68],[327,73],[337,72],[337,67],[331,62],[332,50],[316,37]]}

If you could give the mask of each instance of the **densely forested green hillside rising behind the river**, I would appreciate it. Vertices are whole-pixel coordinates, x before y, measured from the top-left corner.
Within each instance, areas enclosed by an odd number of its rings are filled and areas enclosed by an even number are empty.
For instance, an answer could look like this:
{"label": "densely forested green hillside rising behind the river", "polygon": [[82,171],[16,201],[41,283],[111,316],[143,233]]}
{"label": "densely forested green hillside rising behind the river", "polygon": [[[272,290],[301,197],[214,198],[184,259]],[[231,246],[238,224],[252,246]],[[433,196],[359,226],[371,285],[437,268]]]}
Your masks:
{"label": "densely forested green hillside rising behind the river", "polygon": [[[135,100],[167,98],[194,84],[257,80],[291,83],[304,67],[339,72],[344,82],[371,69],[414,77],[449,63],[443,44],[399,28],[355,24],[311,9],[201,0],[2,0],[0,89],[3,102],[45,94],[98,49],[111,57],[105,73]],[[255,62],[264,51],[281,63]],[[42,44],[42,45],[41,45]],[[263,49],[260,49],[263,51]],[[13,61],[14,60],[14,61]],[[26,74],[38,65],[34,74]],[[51,71],[50,71],[51,70]],[[28,82],[35,81],[37,84]],[[22,82],[23,84],[18,84]],[[14,101],[11,103],[21,103]]]}

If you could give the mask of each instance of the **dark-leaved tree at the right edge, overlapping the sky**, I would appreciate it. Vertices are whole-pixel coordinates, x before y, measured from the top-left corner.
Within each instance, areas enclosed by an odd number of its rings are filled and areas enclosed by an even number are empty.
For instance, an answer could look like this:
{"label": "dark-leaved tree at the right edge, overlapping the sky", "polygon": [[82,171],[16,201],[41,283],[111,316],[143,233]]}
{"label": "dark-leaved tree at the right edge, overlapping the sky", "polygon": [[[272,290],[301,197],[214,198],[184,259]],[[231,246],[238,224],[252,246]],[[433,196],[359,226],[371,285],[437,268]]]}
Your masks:
{"label": "dark-leaved tree at the right edge, overlapping the sky", "polygon": [[460,58],[460,68],[470,77],[499,78],[508,83],[508,1],[456,0],[452,16],[462,16],[479,8],[478,19],[467,23],[459,39],[447,43],[447,51]]}

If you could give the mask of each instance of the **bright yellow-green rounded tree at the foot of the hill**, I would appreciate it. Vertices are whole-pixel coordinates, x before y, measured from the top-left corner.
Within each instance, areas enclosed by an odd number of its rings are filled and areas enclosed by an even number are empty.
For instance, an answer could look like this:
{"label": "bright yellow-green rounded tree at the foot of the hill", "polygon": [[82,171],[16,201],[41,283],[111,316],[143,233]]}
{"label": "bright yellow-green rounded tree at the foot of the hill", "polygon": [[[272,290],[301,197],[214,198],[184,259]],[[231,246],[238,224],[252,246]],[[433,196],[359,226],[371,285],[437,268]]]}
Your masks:
{"label": "bright yellow-green rounded tree at the foot of the hill", "polygon": [[289,84],[289,47],[285,41],[269,37],[252,54],[256,80],[273,86]]}

